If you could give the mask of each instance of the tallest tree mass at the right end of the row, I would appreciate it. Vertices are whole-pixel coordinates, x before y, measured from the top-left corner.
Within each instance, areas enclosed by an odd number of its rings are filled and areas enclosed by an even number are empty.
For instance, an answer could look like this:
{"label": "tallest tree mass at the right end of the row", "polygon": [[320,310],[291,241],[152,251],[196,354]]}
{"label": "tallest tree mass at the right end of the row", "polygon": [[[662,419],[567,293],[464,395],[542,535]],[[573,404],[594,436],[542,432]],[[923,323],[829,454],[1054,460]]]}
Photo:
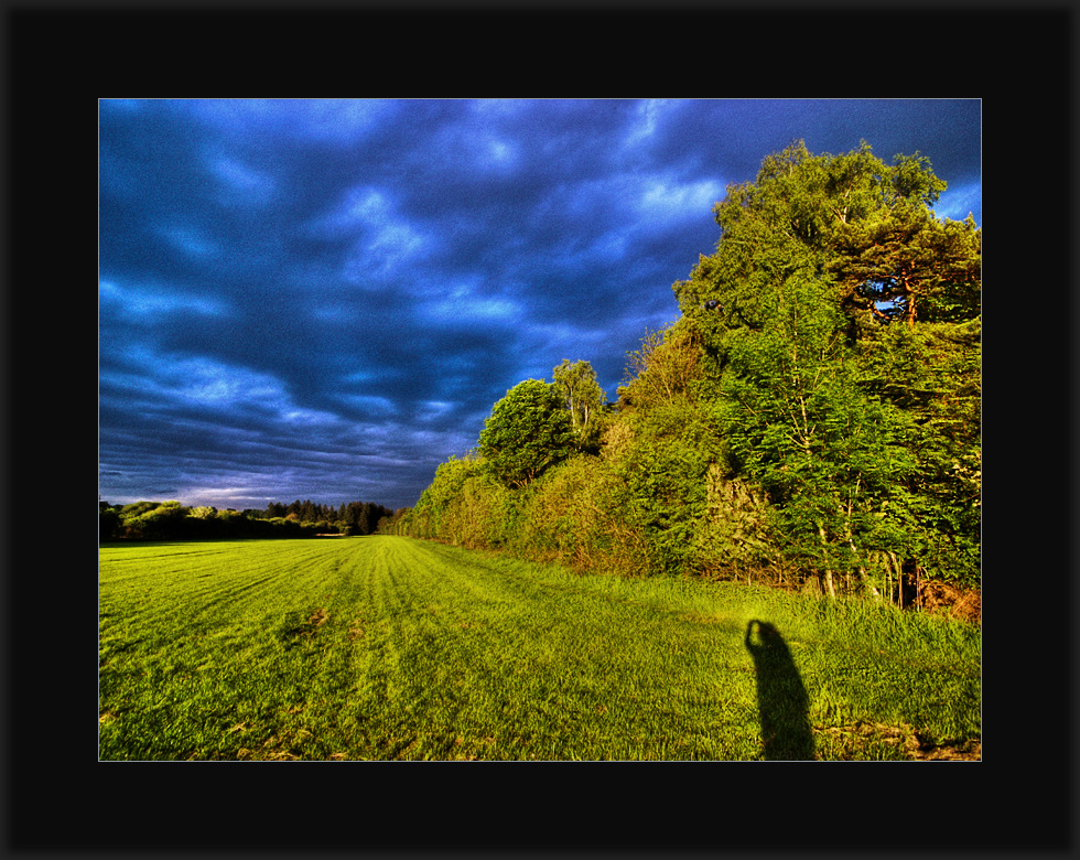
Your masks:
{"label": "tallest tree mass at the right end of the row", "polygon": [[798,141],[728,189],[674,284],[732,461],[830,591],[881,559],[978,580],[981,246],[932,212],[944,189],[918,153]]}

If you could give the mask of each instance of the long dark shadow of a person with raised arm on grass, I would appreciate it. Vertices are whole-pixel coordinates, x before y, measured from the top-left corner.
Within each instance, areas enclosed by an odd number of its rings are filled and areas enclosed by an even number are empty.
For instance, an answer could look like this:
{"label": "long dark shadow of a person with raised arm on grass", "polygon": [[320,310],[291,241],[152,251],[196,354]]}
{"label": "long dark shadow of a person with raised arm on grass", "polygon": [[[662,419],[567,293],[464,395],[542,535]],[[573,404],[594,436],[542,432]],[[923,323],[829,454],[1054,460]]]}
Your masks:
{"label": "long dark shadow of a person with raised arm on grass", "polygon": [[[754,625],[757,625],[757,643]],[[780,632],[764,621],[746,625],[746,649],[757,673],[757,709],[767,761],[813,760],[810,698]]]}

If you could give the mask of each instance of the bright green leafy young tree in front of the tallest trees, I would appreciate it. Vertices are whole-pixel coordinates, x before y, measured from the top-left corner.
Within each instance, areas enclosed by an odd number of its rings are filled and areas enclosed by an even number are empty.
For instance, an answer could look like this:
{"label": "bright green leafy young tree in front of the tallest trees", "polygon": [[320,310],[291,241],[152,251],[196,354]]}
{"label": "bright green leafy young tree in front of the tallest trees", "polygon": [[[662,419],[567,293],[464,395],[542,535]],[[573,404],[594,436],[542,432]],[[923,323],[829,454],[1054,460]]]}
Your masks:
{"label": "bright green leafy young tree in front of the tallest trees", "polygon": [[827,289],[793,276],[770,297],[762,331],[725,338],[717,413],[739,473],[778,508],[786,551],[832,590],[831,571],[866,567],[860,526],[914,463],[903,416],[867,397],[845,361]]}

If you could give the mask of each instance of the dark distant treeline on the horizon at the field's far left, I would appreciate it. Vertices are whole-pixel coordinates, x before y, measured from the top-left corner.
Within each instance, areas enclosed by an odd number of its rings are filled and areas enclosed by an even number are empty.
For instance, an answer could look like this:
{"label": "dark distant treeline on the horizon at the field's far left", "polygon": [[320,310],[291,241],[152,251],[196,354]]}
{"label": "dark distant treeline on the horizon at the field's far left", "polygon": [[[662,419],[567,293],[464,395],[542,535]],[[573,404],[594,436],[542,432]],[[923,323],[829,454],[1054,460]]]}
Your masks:
{"label": "dark distant treeline on the horizon at the field's far left", "polygon": [[266,509],[188,507],[180,502],[99,503],[101,540],[184,540],[195,538],[293,538],[316,535],[370,535],[393,510],[371,502],[338,507],[306,499],[271,502]]}

